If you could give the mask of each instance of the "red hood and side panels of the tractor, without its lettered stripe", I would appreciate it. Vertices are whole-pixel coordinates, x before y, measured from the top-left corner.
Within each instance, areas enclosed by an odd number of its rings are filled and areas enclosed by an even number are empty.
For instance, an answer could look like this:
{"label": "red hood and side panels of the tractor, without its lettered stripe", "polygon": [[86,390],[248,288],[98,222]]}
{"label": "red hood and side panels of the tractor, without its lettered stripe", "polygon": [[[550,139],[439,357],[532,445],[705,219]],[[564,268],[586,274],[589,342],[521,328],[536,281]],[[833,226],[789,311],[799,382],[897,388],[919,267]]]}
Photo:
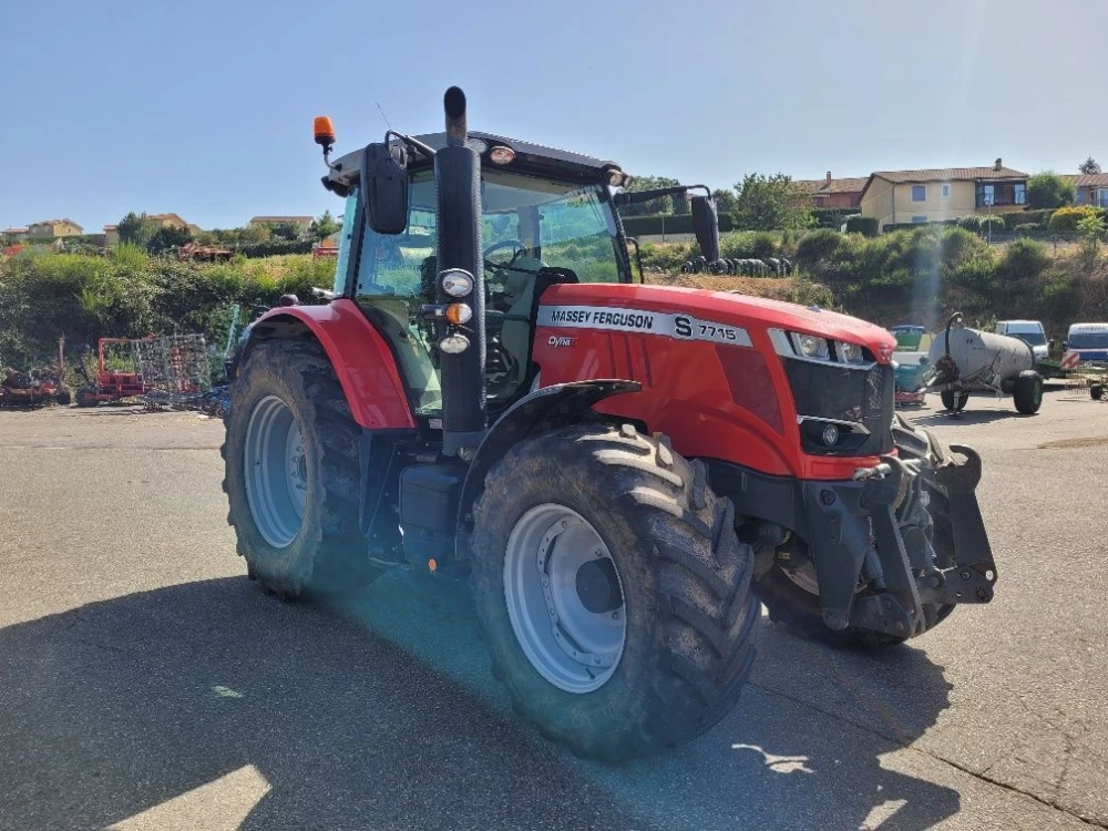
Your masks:
{"label": "red hood and side panels of the tractor, without its lettered stripe", "polygon": [[[613,416],[638,419],[666,433],[689,456],[736,462],[765,473],[799,479],[849,479],[874,458],[828,458],[803,453],[792,393],[770,328],[847,340],[890,361],[895,339],[871,324],[831,311],[702,289],[581,284],[551,287],[543,306],[614,306],[656,312],[687,312],[747,330],[752,347],[678,340],[661,335],[540,327],[534,360],[542,383],[591,378],[638,381],[643,390],[597,404]],[[552,337],[575,339],[554,347]]]}

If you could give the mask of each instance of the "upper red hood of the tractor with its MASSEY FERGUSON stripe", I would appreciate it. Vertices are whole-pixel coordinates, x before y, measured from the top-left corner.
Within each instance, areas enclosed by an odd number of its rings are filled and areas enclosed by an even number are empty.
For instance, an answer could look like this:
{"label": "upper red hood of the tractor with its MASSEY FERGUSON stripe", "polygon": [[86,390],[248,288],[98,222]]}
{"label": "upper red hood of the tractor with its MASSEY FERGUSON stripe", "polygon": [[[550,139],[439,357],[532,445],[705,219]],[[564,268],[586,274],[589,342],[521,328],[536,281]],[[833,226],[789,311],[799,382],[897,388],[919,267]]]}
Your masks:
{"label": "upper red hood of the tractor with its MASSEY FERGUSON stripe", "polygon": [[[604,312],[589,312],[588,309],[594,307],[604,307]],[[542,297],[540,324],[623,331],[649,329],[663,335],[668,334],[666,327],[677,326],[676,337],[683,337],[684,327],[675,324],[683,315],[699,322],[741,327],[748,336],[767,329],[782,329],[858,343],[868,348],[880,363],[889,363],[896,348],[896,339],[889,331],[848,315],[731,291],[677,286],[552,286]]]}

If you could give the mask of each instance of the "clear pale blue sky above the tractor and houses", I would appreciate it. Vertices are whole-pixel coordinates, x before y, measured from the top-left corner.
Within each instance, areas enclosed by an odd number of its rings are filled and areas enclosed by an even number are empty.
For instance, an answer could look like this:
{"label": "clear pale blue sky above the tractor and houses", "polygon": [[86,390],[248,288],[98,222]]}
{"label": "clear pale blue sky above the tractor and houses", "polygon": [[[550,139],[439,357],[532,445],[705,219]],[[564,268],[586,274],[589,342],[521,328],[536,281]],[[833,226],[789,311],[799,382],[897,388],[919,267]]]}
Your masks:
{"label": "clear pale blue sky above the tractor and houses", "polygon": [[378,102],[432,132],[454,83],[475,130],[686,183],[1108,168],[1101,0],[3,7],[0,228],[337,213],[311,117],[334,117],[339,152],[379,138]]}

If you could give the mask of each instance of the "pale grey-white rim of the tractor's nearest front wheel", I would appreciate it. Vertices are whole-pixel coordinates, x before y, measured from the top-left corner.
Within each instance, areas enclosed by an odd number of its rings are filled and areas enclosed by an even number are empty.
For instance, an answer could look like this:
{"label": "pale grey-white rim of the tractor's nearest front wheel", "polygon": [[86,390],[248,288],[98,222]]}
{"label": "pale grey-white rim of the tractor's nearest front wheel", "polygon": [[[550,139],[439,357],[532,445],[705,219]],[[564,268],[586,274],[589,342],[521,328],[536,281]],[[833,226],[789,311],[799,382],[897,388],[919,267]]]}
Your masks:
{"label": "pale grey-white rim of the tractor's nearest front wheel", "polygon": [[581,695],[612,678],[627,639],[623,582],[576,511],[546,503],[520,517],[504,556],[504,601],[523,654],[547,681]]}

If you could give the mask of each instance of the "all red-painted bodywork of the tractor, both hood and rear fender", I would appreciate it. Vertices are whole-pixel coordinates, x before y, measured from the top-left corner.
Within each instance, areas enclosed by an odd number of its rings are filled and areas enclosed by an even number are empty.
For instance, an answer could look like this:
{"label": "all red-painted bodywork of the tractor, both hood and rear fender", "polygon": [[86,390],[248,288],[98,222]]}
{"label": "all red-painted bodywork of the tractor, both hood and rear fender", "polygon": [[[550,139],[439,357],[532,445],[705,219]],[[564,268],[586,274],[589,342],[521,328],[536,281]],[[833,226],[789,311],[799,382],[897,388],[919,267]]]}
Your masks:
{"label": "all red-painted bodywork of the tractor, both hood and rear fender", "polygon": [[[627,284],[557,285],[542,306],[612,306],[742,327],[751,347],[679,340],[656,334],[541,326],[534,360],[542,384],[589,379],[625,379],[640,392],[616,396],[597,410],[644,422],[670,437],[688,456],[722,459],[755,470],[799,479],[849,479],[875,458],[829,458],[803,453],[792,393],[767,330],[779,328],[868,347],[889,363],[895,339],[884,329],[832,311],[725,291]],[[412,428],[412,416],[396,360],[384,338],[357,304],[274,309],[259,319],[295,319],[327,351],[355,420],[365,428]],[[555,347],[557,338],[572,346]]]}

